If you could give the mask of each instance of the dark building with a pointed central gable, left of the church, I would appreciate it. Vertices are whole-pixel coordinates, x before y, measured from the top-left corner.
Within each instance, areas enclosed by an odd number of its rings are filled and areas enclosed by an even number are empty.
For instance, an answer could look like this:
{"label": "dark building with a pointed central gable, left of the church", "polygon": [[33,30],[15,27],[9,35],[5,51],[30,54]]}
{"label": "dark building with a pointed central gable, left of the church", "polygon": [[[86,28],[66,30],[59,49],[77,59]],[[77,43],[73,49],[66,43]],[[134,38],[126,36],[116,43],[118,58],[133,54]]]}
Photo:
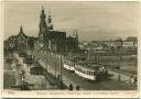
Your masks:
{"label": "dark building with a pointed central gable, left of the church", "polygon": [[34,40],[35,37],[25,35],[21,26],[18,35],[11,35],[7,41],[4,41],[4,50],[20,52],[33,50]]}

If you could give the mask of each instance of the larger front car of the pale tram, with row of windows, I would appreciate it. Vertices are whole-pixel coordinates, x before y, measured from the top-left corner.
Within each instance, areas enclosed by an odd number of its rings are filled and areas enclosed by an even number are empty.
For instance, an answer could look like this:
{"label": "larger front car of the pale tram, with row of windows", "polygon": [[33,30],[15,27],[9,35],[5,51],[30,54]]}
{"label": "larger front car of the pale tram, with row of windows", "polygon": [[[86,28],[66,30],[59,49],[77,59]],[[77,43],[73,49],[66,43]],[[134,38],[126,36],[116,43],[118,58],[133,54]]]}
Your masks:
{"label": "larger front car of the pale tram, with row of windows", "polygon": [[99,67],[100,65],[76,64],[75,74],[89,80],[97,80],[97,75],[100,74]]}

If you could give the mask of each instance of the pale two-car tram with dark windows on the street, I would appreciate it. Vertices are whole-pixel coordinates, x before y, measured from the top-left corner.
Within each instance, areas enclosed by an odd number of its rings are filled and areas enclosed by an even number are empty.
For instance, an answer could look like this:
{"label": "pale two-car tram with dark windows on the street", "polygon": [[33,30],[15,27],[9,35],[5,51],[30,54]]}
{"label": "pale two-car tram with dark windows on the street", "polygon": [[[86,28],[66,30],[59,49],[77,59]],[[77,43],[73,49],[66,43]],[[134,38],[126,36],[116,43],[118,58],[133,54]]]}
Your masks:
{"label": "pale two-car tram with dark windows on the street", "polygon": [[74,72],[76,75],[89,79],[97,80],[97,76],[102,72],[102,66],[99,64],[87,64],[87,63],[77,63],[65,61],[64,68],[69,72]]}

